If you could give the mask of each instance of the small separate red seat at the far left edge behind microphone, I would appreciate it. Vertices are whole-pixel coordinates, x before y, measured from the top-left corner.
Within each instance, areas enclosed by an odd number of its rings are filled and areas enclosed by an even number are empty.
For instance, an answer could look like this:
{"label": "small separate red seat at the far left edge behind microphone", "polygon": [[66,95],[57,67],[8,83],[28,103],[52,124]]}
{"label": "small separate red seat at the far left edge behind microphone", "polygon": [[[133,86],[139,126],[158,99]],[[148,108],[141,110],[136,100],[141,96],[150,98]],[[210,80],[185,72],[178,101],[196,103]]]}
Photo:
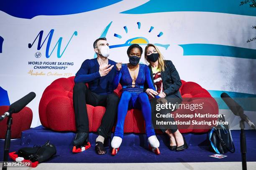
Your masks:
{"label": "small separate red seat at the far left edge behind microphone", "polygon": [[[3,115],[8,111],[9,106],[0,106],[0,115]],[[20,112],[12,114],[13,124],[11,127],[11,139],[20,138],[23,130],[28,130],[31,126],[33,113],[29,107],[24,107]],[[7,130],[7,120],[0,122],[0,139],[5,139],[5,133]]]}

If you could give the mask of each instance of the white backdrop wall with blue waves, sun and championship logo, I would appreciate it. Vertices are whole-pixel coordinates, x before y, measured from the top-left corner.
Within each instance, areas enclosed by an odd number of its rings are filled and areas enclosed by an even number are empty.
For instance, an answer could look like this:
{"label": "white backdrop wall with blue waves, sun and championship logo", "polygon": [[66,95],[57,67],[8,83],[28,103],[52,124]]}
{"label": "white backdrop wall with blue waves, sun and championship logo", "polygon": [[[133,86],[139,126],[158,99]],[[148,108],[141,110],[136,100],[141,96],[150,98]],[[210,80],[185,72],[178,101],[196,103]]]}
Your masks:
{"label": "white backdrop wall with blue waves, sun and championship logo", "polygon": [[[0,105],[34,91],[28,104],[31,127],[40,125],[44,89],[59,77],[74,76],[85,59],[95,57],[98,37],[107,37],[109,58],[116,62],[128,62],[131,43],[154,43],[182,80],[197,82],[213,97],[223,91],[256,97],[256,4],[247,1],[2,1]],[[220,107],[220,113],[238,120],[227,108]],[[245,110],[256,122],[255,108]],[[237,121],[232,128],[238,128]]]}

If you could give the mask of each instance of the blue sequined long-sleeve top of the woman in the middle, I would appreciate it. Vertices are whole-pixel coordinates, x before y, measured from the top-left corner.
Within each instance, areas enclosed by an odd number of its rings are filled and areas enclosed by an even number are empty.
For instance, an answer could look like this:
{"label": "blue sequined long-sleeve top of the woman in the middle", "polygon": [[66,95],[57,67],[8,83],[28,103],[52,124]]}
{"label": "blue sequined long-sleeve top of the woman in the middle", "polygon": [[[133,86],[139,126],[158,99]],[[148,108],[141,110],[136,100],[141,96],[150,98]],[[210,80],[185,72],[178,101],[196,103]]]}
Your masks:
{"label": "blue sequined long-sleeve top of the woman in the middle", "polygon": [[[138,76],[135,81],[135,87],[132,87],[132,77],[129,73],[127,64],[122,64],[122,68],[120,71],[116,70],[115,77],[113,79],[113,86],[114,89],[118,87],[118,84],[120,84],[123,87],[123,90],[127,90],[133,93],[141,93],[143,92],[144,83],[145,81],[148,84],[148,88],[151,88],[156,91],[156,88],[154,87],[151,77],[150,77],[150,70],[147,65],[145,64],[139,64],[139,72]],[[156,98],[159,98],[157,95]]]}

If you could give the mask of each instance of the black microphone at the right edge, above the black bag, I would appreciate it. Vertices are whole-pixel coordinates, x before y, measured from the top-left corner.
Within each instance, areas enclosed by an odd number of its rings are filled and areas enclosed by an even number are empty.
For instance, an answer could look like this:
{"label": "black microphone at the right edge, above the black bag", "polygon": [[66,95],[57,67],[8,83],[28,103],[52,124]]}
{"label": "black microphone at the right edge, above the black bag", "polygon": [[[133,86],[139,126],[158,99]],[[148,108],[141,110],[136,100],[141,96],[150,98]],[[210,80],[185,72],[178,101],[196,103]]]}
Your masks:
{"label": "black microphone at the right edge, above the black bag", "polygon": [[223,92],[220,97],[224,102],[228,105],[230,110],[236,115],[240,116],[242,120],[246,121],[248,125],[256,130],[255,125],[251,120],[243,113],[243,108],[235,101],[233,100],[227,93]]}

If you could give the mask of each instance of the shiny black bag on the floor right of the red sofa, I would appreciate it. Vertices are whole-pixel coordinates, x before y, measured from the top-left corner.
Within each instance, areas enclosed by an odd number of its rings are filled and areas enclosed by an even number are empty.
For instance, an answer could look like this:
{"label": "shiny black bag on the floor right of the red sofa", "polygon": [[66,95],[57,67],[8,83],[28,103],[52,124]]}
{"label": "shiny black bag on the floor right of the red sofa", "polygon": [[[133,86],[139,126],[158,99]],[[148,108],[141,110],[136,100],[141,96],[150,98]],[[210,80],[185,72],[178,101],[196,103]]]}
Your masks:
{"label": "shiny black bag on the floor right of the red sofa", "polygon": [[[218,118],[218,122],[225,122],[225,117]],[[213,127],[209,133],[209,140],[213,150],[218,154],[235,152],[235,146],[233,143],[232,135],[229,125],[217,125]]]}

